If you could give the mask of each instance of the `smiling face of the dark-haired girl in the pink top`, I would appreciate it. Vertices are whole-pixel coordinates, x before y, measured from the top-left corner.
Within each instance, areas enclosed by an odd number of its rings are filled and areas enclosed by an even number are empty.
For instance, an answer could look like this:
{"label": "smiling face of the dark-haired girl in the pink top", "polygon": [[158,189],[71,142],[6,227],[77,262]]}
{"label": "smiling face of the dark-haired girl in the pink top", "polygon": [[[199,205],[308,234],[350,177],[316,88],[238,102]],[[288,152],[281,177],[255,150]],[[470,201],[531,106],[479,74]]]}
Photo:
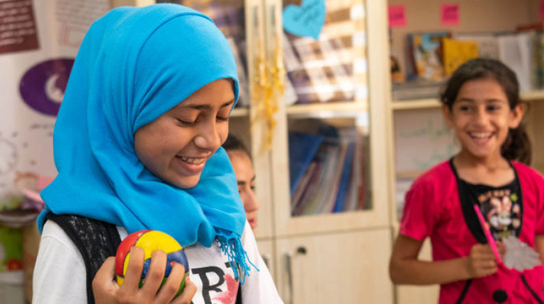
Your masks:
{"label": "smiling face of the dark-haired girl in the pink top", "polygon": [[481,78],[465,82],[451,110],[444,105],[443,112],[463,152],[475,158],[489,158],[501,156],[509,129],[521,122],[523,105],[511,109],[499,83]]}

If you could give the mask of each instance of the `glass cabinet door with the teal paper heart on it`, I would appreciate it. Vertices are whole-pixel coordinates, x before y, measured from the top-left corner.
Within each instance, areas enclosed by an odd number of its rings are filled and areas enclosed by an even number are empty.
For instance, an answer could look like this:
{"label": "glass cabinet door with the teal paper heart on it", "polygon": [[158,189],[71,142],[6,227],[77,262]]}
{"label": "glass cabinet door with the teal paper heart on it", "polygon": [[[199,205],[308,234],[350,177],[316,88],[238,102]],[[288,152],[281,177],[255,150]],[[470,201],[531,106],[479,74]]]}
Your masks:
{"label": "glass cabinet door with the teal paper heart on it", "polygon": [[387,170],[385,139],[373,139],[373,129],[385,124],[373,120],[382,105],[370,102],[367,4],[275,4],[267,8],[281,20],[280,39],[268,41],[279,42],[285,71],[273,144],[276,229],[290,235],[385,224],[387,187],[375,191],[386,184],[375,170],[376,163]]}

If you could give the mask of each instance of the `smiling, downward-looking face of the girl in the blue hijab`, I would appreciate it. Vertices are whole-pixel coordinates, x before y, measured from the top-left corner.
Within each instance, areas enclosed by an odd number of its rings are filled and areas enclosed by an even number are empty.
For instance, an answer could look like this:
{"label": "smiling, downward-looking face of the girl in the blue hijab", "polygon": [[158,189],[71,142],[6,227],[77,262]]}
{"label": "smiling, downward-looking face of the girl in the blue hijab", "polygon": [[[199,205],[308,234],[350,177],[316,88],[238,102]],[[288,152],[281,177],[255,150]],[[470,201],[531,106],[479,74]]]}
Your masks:
{"label": "smiling, downward-looking face of the girl in the blue hijab", "polygon": [[225,142],[234,104],[232,82],[212,81],[134,134],[145,167],[179,188],[195,187],[206,160]]}

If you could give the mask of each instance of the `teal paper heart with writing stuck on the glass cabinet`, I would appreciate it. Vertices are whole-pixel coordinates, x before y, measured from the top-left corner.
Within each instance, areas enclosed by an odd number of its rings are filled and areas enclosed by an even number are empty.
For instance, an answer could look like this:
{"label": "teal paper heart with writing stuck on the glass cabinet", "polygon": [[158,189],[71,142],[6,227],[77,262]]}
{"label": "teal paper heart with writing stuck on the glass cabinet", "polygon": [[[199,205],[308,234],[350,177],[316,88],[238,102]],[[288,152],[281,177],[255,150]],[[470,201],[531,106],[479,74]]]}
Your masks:
{"label": "teal paper heart with writing stuck on the glass cabinet", "polygon": [[325,23],[325,0],[302,0],[301,6],[283,8],[283,29],[293,35],[319,39]]}

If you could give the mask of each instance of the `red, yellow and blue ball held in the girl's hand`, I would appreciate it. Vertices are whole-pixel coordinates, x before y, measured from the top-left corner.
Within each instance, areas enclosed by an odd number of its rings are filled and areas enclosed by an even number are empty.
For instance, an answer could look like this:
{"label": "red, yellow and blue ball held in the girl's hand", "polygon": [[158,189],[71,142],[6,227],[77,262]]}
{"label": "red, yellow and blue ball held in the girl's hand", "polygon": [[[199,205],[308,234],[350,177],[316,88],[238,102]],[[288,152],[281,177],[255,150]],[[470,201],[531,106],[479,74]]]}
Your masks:
{"label": "red, yellow and blue ball held in the girl's hand", "polygon": [[[115,255],[115,276],[119,286],[123,285],[125,280],[125,272],[128,268],[128,261],[130,259],[130,248],[140,247],[144,250],[144,269],[142,270],[142,278],[140,279],[140,287],[143,286],[145,276],[151,265],[151,253],[156,250],[162,250],[166,252],[166,271],[164,271],[164,279],[162,284],[166,282],[170,272],[172,271],[171,262],[180,263],[185,267],[185,277],[188,276],[189,264],[183,247],[179,245],[174,238],[170,235],[157,230],[140,230],[128,235],[123,242],[120,243],[117,248],[117,254]],[[179,296],[183,287],[185,286],[185,277],[181,281],[179,291],[176,296]],[[161,284],[161,286],[162,286]]]}

